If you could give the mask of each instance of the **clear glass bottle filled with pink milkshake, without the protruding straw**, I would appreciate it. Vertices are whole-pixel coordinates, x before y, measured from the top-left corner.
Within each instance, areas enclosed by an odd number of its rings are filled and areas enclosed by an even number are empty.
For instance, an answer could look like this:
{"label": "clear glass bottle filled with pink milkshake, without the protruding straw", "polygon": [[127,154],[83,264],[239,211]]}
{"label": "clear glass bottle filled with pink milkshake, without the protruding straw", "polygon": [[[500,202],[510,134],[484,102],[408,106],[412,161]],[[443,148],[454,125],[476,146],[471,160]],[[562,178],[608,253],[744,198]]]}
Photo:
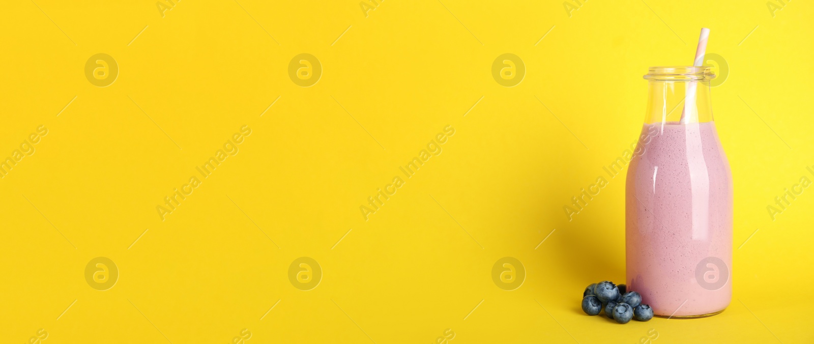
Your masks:
{"label": "clear glass bottle filled with pink milkshake, without the protruding straw", "polygon": [[732,298],[733,186],[706,67],[653,67],[628,169],[628,290],[664,317],[715,315]]}

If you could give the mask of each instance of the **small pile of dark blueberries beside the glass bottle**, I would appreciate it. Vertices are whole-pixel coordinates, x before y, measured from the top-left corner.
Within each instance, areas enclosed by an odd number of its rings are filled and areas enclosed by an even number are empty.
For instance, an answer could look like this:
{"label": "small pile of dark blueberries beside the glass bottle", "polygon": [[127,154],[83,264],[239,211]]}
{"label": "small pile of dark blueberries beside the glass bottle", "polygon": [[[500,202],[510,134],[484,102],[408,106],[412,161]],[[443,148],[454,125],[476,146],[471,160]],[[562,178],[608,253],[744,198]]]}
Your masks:
{"label": "small pile of dark blueberries beside the glass bottle", "polygon": [[641,295],[625,293],[625,289],[624,284],[616,286],[607,280],[589,285],[582,293],[582,311],[597,315],[605,309],[605,315],[619,324],[628,324],[632,318],[639,321],[653,319],[653,309],[641,303]]}

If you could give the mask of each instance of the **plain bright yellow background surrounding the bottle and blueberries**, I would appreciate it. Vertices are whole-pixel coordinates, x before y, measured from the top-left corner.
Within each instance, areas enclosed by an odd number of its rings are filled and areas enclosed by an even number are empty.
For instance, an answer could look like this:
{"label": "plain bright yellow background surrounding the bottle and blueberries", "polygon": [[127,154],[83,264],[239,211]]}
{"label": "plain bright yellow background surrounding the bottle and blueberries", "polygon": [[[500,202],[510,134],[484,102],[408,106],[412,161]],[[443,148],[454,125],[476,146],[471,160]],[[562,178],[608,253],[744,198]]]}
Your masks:
{"label": "plain bright yellow background surrounding the bottle and blueberries", "polygon": [[[0,156],[49,132],[0,179],[0,342],[814,342],[814,191],[766,210],[814,179],[812,15],[766,0],[592,0],[570,16],[560,1],[387,0],[367,16],[358,1],[184,0],[164,16],[8,2]],[[689,64],[703,26],[730,68],[712,96],[733,302],[701,320],[584,315],[585,285],[624,280],[623,174],[573,221],[562,206],[636,139],[646,68]],[[118,65],[110,86],[85,77],[97,53]],[[301,53],[322,64],[310,87],[288,75]],[[505,53],[526,68],[514,87],[492,77]],[[203,179],[241,126],[252,135]],[[445,126],[443,153],[365,221],[359,206]],[[155,206],[193,175],[162,221]],[[85,282],[96,257],[116,263],[112,289]],[[315,289],[287,277],[300,257],[322,267]],[[523,263],[519,289],[492,281],[502,257]]]}

